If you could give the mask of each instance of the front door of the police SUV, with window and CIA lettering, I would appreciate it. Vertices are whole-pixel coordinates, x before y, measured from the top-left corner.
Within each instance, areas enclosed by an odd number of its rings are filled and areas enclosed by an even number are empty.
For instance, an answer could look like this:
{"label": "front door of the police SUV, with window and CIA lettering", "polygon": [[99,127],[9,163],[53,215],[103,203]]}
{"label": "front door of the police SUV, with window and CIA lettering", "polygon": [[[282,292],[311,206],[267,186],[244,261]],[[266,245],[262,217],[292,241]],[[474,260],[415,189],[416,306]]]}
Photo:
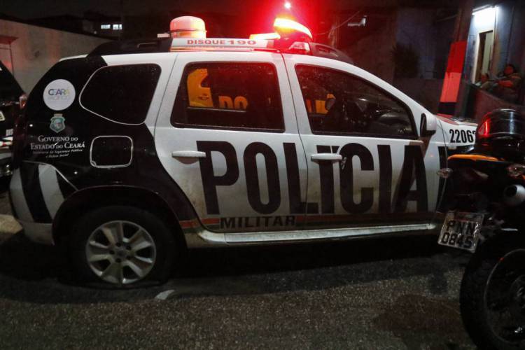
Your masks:
{"label": "front door of the police SUV, with window and CIA lettering", "polygon": [[285,62],[308,163],[306,227],[427,227],[443,146],[440,130],[419,137],[428,111],[350,64],[304,55]]}

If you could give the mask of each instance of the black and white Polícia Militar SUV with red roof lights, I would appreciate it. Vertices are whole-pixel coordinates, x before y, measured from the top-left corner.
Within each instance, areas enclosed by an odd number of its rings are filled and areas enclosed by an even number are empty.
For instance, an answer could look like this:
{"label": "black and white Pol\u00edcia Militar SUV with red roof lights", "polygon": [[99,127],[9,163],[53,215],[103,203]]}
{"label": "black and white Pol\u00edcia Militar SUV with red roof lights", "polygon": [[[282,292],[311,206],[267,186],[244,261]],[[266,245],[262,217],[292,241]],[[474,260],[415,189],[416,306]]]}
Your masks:
{"label": "black and white Pol\u00edcia Militar SUV with red roof lights", "polygon": [[90,282],[163,281],[185,248],[433,232],[475,125],[325,45],[104,44],[62,59],[15,130],[13,213]]}

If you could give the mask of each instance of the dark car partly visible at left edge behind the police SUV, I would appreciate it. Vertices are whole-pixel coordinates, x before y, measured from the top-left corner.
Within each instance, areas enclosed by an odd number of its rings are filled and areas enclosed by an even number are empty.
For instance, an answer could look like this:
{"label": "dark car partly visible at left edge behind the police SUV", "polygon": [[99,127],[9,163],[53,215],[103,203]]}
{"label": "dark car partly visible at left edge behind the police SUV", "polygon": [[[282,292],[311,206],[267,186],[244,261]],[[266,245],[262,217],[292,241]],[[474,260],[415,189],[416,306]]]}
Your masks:
{"label": "dark car partly visible at left edge behind the police SUV", "polygon": [[11,172],[15,122],[27,97],[13,74],[0,61],[0,192],[6,190]]}

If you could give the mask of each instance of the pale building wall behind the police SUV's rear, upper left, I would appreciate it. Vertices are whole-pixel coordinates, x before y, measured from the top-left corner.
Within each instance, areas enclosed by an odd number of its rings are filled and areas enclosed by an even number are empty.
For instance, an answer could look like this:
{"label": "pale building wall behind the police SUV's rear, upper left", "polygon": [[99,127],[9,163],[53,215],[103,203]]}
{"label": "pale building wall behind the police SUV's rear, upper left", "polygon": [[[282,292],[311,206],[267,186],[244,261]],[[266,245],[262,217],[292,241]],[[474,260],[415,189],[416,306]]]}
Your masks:
{"label": "pale building wall behind the police SUV's rear, upper left", "polygon": [[13,73],[25,92],[62,57],[89,53],[107,39],[0,20],[0,36],[14,36],[11,43]]}

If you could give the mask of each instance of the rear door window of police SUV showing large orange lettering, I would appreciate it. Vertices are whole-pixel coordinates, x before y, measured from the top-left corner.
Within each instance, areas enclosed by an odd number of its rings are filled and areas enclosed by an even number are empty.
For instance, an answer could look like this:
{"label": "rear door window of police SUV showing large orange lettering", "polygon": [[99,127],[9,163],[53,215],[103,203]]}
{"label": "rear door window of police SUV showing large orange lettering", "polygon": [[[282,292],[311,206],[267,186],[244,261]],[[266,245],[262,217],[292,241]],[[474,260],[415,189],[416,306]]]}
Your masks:
{"label": "rear door window of police SUV showing large orange lettering", "polygon": [[188,64],[172,111],[172,125],[284,132],[275,67],[255,62]]}

